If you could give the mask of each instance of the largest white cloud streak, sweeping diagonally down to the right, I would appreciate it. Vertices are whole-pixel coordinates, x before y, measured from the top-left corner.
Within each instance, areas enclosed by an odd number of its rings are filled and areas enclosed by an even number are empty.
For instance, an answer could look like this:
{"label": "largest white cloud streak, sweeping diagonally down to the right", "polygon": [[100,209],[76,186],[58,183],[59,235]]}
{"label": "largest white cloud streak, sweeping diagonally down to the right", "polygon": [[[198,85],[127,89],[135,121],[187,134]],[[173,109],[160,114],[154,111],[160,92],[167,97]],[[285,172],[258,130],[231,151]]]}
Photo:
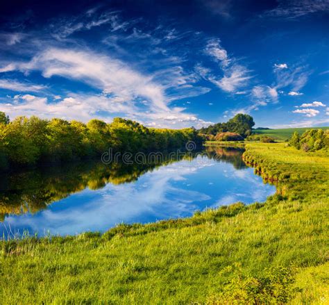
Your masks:
{"label": "largest white cloud streak, sweeping diagonally down to the right", "polygon": [[29,63],[19,65],[19,69],[41,70],[47,78],[63,76],[83,81],[124,101],[144,97],[151,100],[154,108],[169,110],[165,88],[154,83],[151,76],[140,74],[121,60],[91,51],[50,48]]}

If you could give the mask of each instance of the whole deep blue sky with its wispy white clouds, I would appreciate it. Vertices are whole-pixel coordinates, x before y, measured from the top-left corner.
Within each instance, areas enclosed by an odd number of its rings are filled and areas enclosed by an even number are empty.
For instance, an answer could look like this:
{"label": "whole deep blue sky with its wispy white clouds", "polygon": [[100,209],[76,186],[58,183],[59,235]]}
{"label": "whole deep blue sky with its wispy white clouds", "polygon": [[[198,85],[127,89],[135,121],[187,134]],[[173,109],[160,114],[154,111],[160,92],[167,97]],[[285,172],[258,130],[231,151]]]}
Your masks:
{"label": "whole deep blue sky with its wispy white clouds", "polygon": [[[177,3],[178,2],[178,3]],[[329,1],[8,1],[0,111],[181,128],[329,125]]]}

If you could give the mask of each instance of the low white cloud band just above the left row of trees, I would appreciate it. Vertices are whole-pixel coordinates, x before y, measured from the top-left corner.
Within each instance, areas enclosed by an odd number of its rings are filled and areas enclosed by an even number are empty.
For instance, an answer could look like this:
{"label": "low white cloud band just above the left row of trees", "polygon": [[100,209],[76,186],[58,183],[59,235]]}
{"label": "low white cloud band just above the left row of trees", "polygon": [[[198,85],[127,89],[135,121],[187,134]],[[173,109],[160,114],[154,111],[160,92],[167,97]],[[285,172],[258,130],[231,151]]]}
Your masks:
{"label": "low white cloud band just above the left row of trees", "polygon": [[[37,115],[44,118],[60,117],[62,119],[78,119],[88,122],[90,119],[99,118],[106,122],[112,121],[115,116],[124,116],[134,119],[146,126],[183,128],[192,126],[201,128],[214,124],[199,119],[192,113],[183,113],[184,108],[173,108],[169,111],[141,112],[137,106],[124,101],[117,101],[115,97],[103,94],[69,94],[60,101],[49,101],[47,97],[36,97],[31,94],[16,95],[10,104],[1,104],[0,111],[10,117],[19,115]],[[101,110],[101,114],[99,111]]]}

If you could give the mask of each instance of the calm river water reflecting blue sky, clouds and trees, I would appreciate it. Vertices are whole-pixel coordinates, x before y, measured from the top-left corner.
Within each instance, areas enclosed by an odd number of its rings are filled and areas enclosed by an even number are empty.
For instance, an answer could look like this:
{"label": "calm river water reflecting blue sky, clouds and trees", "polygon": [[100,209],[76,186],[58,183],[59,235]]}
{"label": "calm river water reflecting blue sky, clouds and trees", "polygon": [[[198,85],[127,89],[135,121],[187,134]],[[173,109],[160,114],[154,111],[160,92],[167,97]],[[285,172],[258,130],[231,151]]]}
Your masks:
{"label": "calm river water reflecting blue sky, clouds and trees", "polygon": [[1,236],[106,231],[121,222],[155,222],[236,201],[264,201],[276,191],[246,167],[242,151],[206,152],[156,166],[88,162],[2,175]]}

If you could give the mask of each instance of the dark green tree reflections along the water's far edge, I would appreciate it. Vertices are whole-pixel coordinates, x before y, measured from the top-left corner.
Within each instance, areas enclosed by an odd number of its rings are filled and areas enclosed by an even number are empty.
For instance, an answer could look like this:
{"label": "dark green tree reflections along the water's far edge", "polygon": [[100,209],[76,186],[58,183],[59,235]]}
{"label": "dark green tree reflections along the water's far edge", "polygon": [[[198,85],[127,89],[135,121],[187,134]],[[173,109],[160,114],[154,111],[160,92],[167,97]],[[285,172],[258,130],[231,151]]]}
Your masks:
{"label": "dark green tree reflections along the water's far edge", "polygon": [[[202,152],[186,153],[179,160],[193,160],[199,154],[203,158],[232,163],[236,169],[245,168],[242,149],[207,147]],[[206,156],[206,157],[205,157]],[[8,214],[36,213],[55,201],[85,188],[98,190],[107,183],[121,184],[136,181],[142,174],[162,165],[177,162],[173,155],[165,155],[158,163],[132,164],[111,163],[99,160],[73,163],[60,167],[40,167],[24,172],[2,174],[0,179],[0,221]]]}

